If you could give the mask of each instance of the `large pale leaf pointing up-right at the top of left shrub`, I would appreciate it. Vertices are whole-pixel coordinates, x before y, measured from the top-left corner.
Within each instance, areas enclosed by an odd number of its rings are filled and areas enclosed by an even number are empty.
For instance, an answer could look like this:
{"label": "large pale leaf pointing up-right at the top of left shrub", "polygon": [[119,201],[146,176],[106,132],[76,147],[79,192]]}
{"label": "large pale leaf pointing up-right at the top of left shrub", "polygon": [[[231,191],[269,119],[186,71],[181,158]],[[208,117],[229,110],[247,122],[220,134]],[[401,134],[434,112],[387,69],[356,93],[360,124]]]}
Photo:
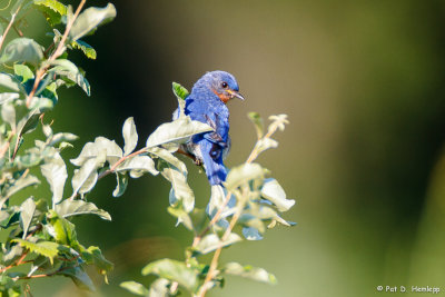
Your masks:
{"label": "large pale leaf pointing up-right at the top of left shrub", "polygon": [[95,30],[98,26],[111,21],[115,17],[116,8],[111,3],[108,3],[105,8],[88,8],[76,19],[69,32],[69,38],[78,40]]}

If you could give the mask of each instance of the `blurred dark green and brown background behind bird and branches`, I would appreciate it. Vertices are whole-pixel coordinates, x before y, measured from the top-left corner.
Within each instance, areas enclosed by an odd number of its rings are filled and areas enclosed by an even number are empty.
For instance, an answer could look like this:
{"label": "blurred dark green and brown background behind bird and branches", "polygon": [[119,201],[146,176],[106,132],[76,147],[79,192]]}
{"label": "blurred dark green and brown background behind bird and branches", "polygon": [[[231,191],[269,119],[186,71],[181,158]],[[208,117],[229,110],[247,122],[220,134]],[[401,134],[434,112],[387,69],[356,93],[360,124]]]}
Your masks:
{"label": "blurred dark green and brown background behind bird and branches", "polygon": [[[122,143],[129,116],[144,143],[176,108],[171,81],[190,89],[209,70],[234,73],[247,98],[229,103],[229,167],[255,142],[248,111],[289,116],[278,149],[259,161],[296,199],[286,218],[298,225],[222,254],[266,268],[278,285],[228,278],[209,296],[387,295],[378,285],[445,291],[444,1],[113,3],[116,20],[86,40],[97,60],[71,56],[87,71],[91,97],[65,90],[51,115],[56,130],[80,136],[66,157],[96,136]],[[43,18],[30,17],[26,33],[49,44]],[[90,195],[112,222],[76,220],[80,240],[116,264],[110,285],[98,277],[99,290],[88,294],[70,279],[42,279],[34,296],[131,296],[120,281],[147,285],[140,269],[148,261],[182,258],[191,237],[166,211],[169,185],[147,176],[115,199],[115,182],[106,178]],[[192,169],[190,182],[204,207],[206,178]]]}

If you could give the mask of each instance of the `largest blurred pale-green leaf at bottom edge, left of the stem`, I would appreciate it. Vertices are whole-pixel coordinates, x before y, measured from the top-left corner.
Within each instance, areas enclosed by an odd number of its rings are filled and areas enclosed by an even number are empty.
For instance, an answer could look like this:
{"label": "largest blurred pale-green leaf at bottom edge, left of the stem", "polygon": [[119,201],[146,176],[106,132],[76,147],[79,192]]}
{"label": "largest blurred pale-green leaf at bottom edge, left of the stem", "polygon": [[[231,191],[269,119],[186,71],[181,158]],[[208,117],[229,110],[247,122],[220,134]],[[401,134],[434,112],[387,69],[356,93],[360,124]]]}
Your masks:
{"label": "largest blurred pale-green leaf at bottom edge, left of the stem", "polygon": [[142,269],[142,275],[157,275],[171,281],[178,281],[180,286],[194,293],[198,288],[198,274],[194,269],[187,267],[184,263],[161,259],[150,263]]}

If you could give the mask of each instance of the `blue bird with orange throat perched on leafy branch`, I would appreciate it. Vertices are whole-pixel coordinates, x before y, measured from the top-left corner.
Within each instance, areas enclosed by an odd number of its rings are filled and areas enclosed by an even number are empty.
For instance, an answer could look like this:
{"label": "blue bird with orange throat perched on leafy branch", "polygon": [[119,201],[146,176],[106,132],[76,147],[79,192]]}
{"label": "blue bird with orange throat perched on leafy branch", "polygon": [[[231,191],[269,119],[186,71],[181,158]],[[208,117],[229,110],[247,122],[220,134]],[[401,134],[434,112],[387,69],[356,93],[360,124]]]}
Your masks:
{"label": "blue bird with orange throat perched on leafy branch", "polygon": [[[226,103],[235,97],[244,100],[235,77],[225,71],[211,71],[195,83],[186,98],[185,115],[209,125],[215,131],[195,135],[181,146],[179,152],[204,165],[211,186],[226,180],[224,159],[230,149],[229,110]],[[179,109],[174,112],[174,119],[178,117]]]}

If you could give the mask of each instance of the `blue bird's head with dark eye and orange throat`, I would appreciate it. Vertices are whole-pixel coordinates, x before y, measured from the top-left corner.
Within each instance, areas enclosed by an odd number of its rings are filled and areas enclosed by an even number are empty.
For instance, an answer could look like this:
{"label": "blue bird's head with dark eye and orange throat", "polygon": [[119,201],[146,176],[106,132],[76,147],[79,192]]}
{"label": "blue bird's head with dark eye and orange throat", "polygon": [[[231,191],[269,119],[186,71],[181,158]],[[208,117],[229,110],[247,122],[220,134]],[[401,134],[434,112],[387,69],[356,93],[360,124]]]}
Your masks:
{"label": "blue bird's head with dark eye and orange throat", "polygon": [[197,87],[209,88],[225,103],[235,97],[244,100],[239,93],[238,82],[228,72],[219,70],[207,72],[197,81]]}

